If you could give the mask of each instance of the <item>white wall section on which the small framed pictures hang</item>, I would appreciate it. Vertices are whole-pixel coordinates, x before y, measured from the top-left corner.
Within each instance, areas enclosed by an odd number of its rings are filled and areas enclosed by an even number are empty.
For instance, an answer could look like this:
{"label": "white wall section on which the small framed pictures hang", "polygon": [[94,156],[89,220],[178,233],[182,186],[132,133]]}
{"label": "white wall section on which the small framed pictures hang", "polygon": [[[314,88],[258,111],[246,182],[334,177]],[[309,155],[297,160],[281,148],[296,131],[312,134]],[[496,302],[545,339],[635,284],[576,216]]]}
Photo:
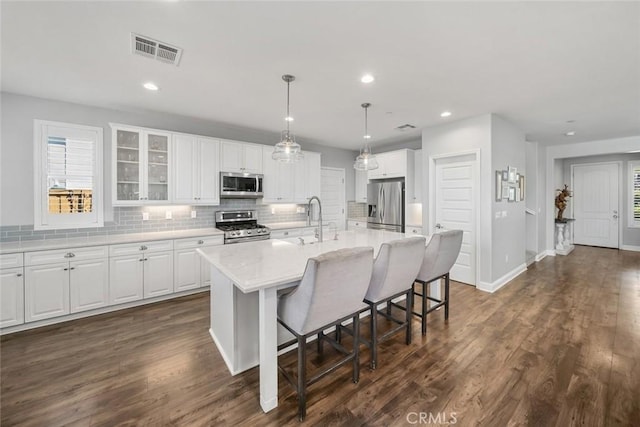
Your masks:
{"label": "white wall section on which the small framed pictures hang", "polygon": [[[500,116],[491,116],[491,182],[496,170],[505,170],[508,166],[517,168],[527,176],[525,168],[526,145],[524,133]],[[526,178],[525,178],[526,179]],[[491,188],[495,189],[495,185]],[[492,193],[493,194],[493,193]],[[526,226],[525,202],[492,201],[491,226],[491,281],[495,282],[506,274],[525,264]],[[497,212],[506,212],[506,217],[496,218]]]}

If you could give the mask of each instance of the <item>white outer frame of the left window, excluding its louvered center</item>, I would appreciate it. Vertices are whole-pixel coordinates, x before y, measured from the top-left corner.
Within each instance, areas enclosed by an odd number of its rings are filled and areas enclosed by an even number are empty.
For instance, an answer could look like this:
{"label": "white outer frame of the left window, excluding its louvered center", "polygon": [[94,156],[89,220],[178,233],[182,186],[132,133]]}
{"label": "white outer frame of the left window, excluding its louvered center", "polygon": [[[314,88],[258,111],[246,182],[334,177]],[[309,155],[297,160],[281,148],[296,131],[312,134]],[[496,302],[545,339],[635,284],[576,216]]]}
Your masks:
{"label": "white outer frame of the left window, excluding its louvered center", "polygon": [[[33,121],[34,143],[34,230],[89,228],[104,226],[103,129],[72,123]],[[95,141],[92,212],[73,215],[49,214],[47,144],[49,136],[91,138]]]}

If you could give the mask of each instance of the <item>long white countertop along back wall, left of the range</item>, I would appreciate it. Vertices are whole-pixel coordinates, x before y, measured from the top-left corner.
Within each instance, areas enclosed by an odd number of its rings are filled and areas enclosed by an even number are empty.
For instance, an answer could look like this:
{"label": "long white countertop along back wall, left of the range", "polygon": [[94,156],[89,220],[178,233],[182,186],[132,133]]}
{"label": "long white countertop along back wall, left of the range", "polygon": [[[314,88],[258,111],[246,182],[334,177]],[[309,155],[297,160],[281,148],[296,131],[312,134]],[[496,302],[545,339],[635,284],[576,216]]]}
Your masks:
{"label": "long white countertop along back wall, left of the range", "polygon": [[224,233],[217,228],[196,228],[148,233],[110,234],[108,236],[74,237],[70,239],[30,240],[28,242],[1,243],[0,254],[222,235],[224,235]]}

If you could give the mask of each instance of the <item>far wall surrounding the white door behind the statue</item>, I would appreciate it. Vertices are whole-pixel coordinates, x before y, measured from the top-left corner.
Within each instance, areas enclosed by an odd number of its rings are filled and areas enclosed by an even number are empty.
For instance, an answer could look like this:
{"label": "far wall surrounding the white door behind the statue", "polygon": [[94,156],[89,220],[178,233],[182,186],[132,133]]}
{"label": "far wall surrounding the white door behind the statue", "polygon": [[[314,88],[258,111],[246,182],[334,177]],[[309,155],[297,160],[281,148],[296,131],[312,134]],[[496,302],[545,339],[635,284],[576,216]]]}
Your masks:
{"label": "far wall surrounding the white door behind the statue", "polygon": [[[629,227],[629,191],[631,191],[631,183],[629,182],[628,162],[640,160],[640,153],[629,154],[608,154],[602,156],[572,157],[564,159],[563,175],[564,181],[572,188],[571,183],[571,166],[585,163],[605,163],[605,162],[621,162],[622,163],[622,182],[620,183],[620,200],[619,200],[619,224],[622,229],[623,246],[635,246],[640,248],[640,228]],[[567,204],[567,216],[573,216],[573,198],[569,199]]]}

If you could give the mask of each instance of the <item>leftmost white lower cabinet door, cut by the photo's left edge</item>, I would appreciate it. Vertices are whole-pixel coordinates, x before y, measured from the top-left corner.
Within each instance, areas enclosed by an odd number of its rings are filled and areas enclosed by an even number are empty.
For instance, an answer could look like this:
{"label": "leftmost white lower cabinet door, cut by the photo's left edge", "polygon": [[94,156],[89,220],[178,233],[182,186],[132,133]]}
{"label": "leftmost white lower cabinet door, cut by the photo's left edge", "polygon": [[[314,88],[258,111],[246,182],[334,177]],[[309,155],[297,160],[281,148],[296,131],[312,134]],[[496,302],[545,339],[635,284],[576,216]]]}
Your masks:
{"label": "leftmost white lower cabinet door, cut by the photo's left edge", "polygon": [[[22,254],[20,254],[22,257]],[[24,323],[24,270],[0,270],[0,328]]]}

